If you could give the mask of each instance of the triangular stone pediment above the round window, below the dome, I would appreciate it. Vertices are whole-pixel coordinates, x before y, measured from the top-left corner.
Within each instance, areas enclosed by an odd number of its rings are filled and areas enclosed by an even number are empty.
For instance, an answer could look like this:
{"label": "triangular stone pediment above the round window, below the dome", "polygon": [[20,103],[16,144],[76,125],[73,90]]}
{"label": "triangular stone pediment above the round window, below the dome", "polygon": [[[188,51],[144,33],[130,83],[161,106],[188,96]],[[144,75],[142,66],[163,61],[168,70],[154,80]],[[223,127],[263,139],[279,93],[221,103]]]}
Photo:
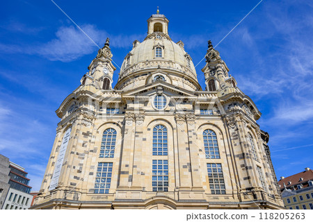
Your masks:
{"label": "triangular stone pediment above the round window, below the dome", "polygon": [[134,96],[152,96],[153,94],[160,93],[160,91],[161,93],[171,97],[182,97],[182,96],[196,97],[194,92],[182,89],[181,87],[177,87],[175,85],[171,85],[162,80],[159,80],[157,82],[150,83],[138,87],[136,89],[131,89],[125,93],[122,93],[122,98],[131,99],[134,98]]}

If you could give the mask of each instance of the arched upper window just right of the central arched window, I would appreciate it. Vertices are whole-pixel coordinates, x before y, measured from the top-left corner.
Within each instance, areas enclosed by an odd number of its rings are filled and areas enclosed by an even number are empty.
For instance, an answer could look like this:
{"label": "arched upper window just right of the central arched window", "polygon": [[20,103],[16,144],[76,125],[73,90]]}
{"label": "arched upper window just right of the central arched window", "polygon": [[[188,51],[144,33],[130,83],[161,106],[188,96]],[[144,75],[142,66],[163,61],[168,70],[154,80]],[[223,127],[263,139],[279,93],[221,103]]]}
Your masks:
{"label": "arched upper window just right of the central arched window", "polygon": [[207,159],[220,159],[220,152],[218,151],[218,142],[216,133],[213,130],[203,131],[203,142],[205,157]]}

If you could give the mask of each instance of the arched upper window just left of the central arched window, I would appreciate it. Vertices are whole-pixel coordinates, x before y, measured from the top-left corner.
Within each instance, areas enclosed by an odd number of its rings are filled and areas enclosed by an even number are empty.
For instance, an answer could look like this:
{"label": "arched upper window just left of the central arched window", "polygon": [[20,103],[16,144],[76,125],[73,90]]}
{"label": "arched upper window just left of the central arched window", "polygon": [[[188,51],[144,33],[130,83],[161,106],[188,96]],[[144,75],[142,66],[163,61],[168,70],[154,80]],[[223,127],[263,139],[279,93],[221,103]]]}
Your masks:
{"label": "arched upper window just left of the central arched window", "polygon": [[116,131],[113,128],[104,130],[100,148],[101,158],[113,158],[116,143]]}

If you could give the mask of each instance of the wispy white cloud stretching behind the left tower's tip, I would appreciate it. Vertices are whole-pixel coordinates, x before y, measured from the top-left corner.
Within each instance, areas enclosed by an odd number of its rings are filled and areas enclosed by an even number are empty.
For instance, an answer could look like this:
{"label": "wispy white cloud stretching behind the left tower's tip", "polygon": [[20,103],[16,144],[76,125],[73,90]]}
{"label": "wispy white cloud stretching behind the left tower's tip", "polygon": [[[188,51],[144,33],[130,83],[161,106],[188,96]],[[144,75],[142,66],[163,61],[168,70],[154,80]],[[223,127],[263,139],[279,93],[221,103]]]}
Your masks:
{"label": "wispy white cloud stretching behind the left tower's tip", "polygon": [[[85,31],[99,46],[103,45],[106,37],[111,38],[111,46],[115,48],[129,48],[135,39],[142,39],[144,35],[110,35],[91,24],[82,25]],[[46,43],[35,45],[0,44],[0,51],[6,53],[26,53],[43,56],[51,61],[71,62],[82,56],[98,50],[88,37],[74,26],[61,26],[55,33],[56,37]]]}

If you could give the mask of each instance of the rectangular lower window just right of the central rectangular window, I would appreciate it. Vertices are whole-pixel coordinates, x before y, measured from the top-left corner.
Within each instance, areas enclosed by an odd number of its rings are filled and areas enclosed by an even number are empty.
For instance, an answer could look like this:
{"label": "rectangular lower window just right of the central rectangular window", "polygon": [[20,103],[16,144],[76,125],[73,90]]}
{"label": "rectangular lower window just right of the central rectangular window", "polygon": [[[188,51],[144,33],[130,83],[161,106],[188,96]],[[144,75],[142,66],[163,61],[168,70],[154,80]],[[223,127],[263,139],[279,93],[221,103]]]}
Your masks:
{"label": "rectangular lower window just right of the central rectangular window", "polygon": [[222,164],[207,164],[211,194],[226,194]]}

